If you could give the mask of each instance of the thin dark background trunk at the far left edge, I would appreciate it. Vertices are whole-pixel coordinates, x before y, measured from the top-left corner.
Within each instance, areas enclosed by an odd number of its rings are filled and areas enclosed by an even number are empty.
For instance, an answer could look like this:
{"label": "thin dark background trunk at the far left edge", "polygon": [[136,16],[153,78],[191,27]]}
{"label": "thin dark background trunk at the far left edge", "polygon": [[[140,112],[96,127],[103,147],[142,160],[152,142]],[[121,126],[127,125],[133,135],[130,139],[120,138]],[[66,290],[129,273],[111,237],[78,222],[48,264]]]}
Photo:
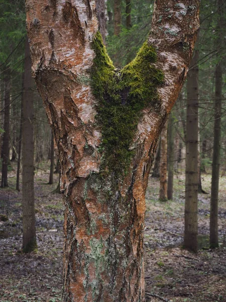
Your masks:
{"label": "thin dark background trunk at the far left edge", "polygon": [[5,74],[5,110],[4,110],[4,134],[3,134],[3,167],[1,187],[8,187],[8,165],[10,161],[10,89],[11,79],[9,74]]}

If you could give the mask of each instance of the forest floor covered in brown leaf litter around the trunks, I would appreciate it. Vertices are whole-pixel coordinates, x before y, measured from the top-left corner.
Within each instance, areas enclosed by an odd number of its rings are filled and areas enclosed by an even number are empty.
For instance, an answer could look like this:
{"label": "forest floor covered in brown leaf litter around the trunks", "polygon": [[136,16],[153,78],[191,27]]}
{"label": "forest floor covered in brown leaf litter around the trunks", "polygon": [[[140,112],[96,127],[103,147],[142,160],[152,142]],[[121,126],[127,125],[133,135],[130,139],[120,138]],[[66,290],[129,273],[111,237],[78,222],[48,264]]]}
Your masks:
{"label": "forest floor covered in brown leaf litter around the trunks", "polygon": [[[38,249],[31,254],[21,253],[22,192],[14,189],[14,171],[10,173],[10,188],[0,189],[0,220],[8,218],[0,221],[0,302],[61,300],[63,205],[60,194],[51,193],[57,178],[54,185],[47,185],[48,173],[39,170],[35,176]],[[147,302],[225,302],[226,178],[220,179],[220,247],[215,250],[208,249],[210,196],[199,195],[197,254],[182,248],[184,180],[182,173],[175,176],[174,201],[167,202],[158,201],[159,181],[149,181],[145,228]],[[209,193],[210,175],[202,175],[202,185]]]}

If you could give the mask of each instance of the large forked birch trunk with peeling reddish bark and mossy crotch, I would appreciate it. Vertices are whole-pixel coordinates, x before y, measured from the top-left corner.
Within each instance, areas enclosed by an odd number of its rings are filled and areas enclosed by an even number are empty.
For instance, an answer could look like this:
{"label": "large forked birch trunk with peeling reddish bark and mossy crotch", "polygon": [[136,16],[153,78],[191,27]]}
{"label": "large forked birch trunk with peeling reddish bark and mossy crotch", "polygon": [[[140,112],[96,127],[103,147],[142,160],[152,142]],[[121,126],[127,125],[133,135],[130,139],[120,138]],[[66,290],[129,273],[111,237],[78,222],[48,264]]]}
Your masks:
{"label": "large forked birch trunk with peeling reddish bark and mossy crotch", "polygon": [[61,166],[64,302],[145,301],[145,191],[186,77],[198,6],[157,2],[148,41],[120,73],[97,32],[94,1],[26,2],[34,75]]}

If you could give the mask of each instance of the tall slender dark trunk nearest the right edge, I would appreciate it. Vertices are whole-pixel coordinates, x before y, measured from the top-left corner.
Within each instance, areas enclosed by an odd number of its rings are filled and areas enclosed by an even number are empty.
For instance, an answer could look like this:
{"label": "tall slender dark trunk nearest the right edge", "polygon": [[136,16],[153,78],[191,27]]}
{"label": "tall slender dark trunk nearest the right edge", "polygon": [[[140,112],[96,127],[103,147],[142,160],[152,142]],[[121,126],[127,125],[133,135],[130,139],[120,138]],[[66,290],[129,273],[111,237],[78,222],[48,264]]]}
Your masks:
{"label": "tall slender dark trunk nearest the right edge", "polygon": [[212,157],[212,181],[210,196],[210,247],[218,247],[218,191],[220,168],[220,132],[221,132],[222,69],[221,62],[215,71],[214,137]]}

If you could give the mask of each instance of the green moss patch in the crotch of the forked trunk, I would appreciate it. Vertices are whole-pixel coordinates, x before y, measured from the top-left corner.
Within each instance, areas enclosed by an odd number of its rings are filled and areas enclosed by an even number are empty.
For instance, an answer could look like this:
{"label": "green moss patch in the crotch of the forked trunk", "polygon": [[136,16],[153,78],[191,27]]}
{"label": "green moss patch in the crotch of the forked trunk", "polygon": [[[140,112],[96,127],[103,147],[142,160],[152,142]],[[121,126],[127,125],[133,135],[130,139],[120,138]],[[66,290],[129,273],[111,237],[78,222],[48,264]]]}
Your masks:
{"label": "green moss patch in the crotch of the forked trunk", "polygon": [[96,56],[90,71],[91,87],[98,101],[96,118],[102,132],[103,167],[126,172],[133,156],[132,143],[142,110],[161,107],[157,87],[163,83],[163,72],[153,65],[157,55],[148,42],[121,70],[114,67],[99,32],[93,39],[92,48]]}

